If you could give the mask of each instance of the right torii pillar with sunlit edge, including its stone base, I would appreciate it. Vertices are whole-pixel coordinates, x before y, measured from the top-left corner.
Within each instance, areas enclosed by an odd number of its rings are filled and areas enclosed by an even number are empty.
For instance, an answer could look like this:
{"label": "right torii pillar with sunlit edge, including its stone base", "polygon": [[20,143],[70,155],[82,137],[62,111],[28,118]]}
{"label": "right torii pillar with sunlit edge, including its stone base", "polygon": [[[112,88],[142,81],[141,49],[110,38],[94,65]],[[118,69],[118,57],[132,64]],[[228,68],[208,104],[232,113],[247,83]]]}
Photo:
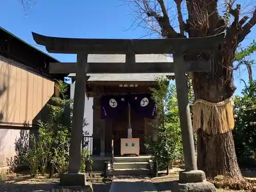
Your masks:
{"label": "right torii pillar with sunlit edge, including its stone base", "polygon": [[206,181],[205,173],[197,170],[183,52],[174,54],[174,63],[185,171],[179,173],[179,182],[173,191],[216,191],[214,184]]}

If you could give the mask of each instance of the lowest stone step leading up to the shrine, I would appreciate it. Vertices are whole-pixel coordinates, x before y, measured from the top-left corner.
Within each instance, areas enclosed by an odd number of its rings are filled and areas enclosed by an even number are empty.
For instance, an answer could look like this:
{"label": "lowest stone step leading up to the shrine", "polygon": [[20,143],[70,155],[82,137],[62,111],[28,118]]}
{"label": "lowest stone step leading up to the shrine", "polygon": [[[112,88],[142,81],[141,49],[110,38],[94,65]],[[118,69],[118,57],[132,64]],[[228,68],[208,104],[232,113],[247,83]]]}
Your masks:
{"label": "lowest stone step leading up to the shrine", "polygon": [[120,168],[110,170],[111,176],[149,176],[151,175],[150,169],[146,168]]}

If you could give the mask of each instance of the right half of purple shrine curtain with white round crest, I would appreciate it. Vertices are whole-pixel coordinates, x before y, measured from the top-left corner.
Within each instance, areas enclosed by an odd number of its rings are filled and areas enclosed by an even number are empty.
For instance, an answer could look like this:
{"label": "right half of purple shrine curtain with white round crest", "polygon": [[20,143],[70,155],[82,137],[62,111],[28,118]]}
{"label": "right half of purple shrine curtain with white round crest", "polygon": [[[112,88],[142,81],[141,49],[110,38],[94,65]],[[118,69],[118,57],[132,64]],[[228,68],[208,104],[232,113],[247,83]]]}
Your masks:
{"label": "right half of purple shrine curtain with white round crest", "polygon": [[131,108],[142,117],[155,119],[157,117],[157,103],[151,97],[151,94],[129,95]]}

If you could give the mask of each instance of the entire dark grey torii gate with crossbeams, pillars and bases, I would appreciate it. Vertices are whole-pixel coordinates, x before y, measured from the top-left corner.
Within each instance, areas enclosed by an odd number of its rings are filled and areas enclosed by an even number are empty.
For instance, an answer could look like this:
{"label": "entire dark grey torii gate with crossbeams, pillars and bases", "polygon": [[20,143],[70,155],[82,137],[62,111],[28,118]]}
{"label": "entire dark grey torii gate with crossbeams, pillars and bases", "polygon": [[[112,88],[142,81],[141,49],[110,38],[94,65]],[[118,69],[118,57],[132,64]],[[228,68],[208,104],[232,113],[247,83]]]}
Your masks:
{"label": "entire dark grey torii gate with crossbeams, pillars and bases", "polygon": [[[177,190],[216,190],[214,185],[205,181],[204,172],[197,170],[185,75],[186,72],[210,71],[211,63],[210,61],[185,62],[183,54],[185,51],[214,50],[223,41],[224,33],[208,37],[173,39],[79,39],[49,37],[33,32],[32,35],[36,43],[46,46],[46,50],[50,53],[77,54],[76,63],[50,63],[50,73],[76,73],[69,168],[68,174],[60,178],[61,185],[86,185],[86,176],[80,174],[79,169],[87,73],[174,72],[185,160],[185,172],[180,173]],[[126,56],[123,63],[89,63],[88,54],[125,54]],[[174,62],[136,63],[135,54],[173,54]]]}

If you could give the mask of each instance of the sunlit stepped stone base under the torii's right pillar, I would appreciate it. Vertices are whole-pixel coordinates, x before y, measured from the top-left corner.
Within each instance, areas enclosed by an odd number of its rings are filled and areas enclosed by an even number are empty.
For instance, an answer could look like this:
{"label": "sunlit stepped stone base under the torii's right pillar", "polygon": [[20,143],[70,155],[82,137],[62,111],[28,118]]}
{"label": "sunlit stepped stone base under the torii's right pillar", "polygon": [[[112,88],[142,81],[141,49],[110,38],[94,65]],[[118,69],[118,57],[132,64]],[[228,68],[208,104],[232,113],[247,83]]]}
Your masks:
{"label": "sunlit stepped stone base under the torii's right pillar", "polygon": [[202,170],[191,170],[190,172],[180,172],[179,182],[174,187],[174,192],[215,192],[214,184],[206,181],[205,173]]}

